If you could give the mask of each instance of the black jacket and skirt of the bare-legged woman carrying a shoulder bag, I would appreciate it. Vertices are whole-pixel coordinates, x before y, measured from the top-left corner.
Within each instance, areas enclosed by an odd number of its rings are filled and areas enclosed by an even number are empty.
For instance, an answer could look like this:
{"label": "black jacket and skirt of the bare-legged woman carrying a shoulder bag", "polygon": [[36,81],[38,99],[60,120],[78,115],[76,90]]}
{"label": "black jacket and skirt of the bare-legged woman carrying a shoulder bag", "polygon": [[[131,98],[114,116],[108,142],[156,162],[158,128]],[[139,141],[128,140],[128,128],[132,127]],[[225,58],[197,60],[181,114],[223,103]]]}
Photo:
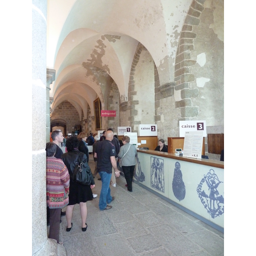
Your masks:
{"label": "black jacket and skirt of the bare-legged woman carrying a shoulder bag", "polygon": [[[93,192],[90,188],[90,185],[82,185],[72,180],[73,170],[75,169],[79,153],[80,151],[78,149],[74,149],[73,151],[66,152],[62,155],[62,161],[64,162],[65,166],[67,166],[68,172],[70,174],[70,193],[68,205],[79,204],[81,202],[85,203],[87,201],[93,200]],[[83,156],[83,163],[84,165],[88,165],[87,157],[85,154]],[[94,185],[95,183],[92,174],[91,178],[91,185]]]}

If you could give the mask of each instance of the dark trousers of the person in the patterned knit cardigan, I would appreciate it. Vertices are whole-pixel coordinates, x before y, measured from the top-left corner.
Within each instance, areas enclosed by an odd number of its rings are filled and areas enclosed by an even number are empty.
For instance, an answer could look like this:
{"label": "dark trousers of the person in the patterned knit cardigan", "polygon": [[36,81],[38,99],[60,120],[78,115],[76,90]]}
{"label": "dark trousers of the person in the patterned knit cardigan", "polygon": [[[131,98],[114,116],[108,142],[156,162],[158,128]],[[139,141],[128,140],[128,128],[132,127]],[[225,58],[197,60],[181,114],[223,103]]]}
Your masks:
{"label": "dark trousers of the person in the patterned knit cardigan", "polygon": [[59,243],[61,209],[49,209],[49,213],[50,213],[49,238],[55,239]]}

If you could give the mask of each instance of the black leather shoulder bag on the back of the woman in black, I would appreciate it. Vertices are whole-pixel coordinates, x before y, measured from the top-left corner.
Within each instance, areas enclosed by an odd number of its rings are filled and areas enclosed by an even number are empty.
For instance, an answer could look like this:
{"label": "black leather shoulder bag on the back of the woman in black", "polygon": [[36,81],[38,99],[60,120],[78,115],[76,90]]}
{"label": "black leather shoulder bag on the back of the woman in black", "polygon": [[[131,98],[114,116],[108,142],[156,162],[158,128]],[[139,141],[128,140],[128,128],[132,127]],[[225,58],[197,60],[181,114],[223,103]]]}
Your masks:
{"label": "black leather shoulder bag on the back of the woman in black", "polygon": [[92,182],[91,171],[88,163],[83,163],[84,153],[80,152],[73,172],[73,181],[82,185],[90,185]]}

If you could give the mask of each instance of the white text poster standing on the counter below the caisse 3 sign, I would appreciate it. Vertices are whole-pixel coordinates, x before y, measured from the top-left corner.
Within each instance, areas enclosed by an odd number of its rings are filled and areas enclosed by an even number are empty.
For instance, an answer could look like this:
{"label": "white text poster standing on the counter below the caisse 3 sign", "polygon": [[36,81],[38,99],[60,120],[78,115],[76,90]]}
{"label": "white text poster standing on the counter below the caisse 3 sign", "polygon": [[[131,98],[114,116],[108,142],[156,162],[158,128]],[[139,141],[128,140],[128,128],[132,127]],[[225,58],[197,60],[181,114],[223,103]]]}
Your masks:
{"label": "white text poster standing on the counter below the caisse 3 sign", "polygon": [[203,131],[186,131],[183,145],[183,157],[201,158]]}

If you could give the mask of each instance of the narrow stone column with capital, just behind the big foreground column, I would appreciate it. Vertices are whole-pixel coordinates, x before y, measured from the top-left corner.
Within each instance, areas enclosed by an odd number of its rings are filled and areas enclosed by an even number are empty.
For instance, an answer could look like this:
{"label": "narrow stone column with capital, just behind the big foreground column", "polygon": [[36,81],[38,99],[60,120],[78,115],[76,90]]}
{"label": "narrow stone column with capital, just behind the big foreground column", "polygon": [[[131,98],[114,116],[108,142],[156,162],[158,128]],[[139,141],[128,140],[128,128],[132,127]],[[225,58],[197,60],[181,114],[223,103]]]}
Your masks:
{"label": "narrow stone column with capital, just behind the big foreground column", "polygon": [[50,105],[53,102],[53,98],[50,99],[50,85],[53,81],[55,81],[55,73],[56,71],[53,69],[47,68],[47,86],[46,86],[46,142],[50,141],[50,129],[51,129],[51,121],[50,121]]}

